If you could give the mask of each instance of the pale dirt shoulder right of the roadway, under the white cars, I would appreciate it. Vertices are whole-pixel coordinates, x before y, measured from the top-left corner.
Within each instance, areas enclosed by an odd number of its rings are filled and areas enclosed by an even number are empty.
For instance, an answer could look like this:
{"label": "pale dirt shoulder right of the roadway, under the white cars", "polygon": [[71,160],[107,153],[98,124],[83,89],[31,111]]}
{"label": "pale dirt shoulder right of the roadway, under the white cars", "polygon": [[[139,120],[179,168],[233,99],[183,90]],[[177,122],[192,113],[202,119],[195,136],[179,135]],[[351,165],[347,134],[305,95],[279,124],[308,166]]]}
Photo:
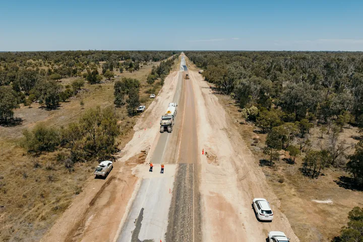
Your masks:
{"label": "pale dirt shoulder right of the roadway, under the white cars", "polygon": [[[283,231],[292,241],[299,241],[218,98],[201,75],[195,71],[189,74],[198,103],[198,146],[207,152],[200,153],[203,241],[264,241],[271,230]],[[256,197],[271,202],[272,223],[257,221],[252,209]]]}

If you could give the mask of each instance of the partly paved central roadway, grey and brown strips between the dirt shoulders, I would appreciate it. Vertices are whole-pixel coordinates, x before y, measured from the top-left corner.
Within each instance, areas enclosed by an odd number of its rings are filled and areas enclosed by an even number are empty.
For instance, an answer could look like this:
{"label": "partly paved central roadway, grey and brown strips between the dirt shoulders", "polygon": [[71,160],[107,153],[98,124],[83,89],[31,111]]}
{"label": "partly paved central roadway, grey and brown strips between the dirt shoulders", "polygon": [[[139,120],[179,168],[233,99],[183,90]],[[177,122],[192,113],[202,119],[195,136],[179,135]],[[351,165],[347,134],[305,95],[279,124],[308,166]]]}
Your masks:
{"label": "partly paved central roadway, grey and brown strips between the dirt shoulders", "polygon": [[[182,57],[176,92],[178,103],[172,133],[160,134],[151,161],[153,177],[143,178],[117,241],[201,241],[198,190],[198,137],[196,103]],[[166,110],[167,107],[165,107]],[[159,164],[165,173],[159,174]],[[176,164],[175,164],[176,163]],[[172,168],[171,168],[172,167]]]}

